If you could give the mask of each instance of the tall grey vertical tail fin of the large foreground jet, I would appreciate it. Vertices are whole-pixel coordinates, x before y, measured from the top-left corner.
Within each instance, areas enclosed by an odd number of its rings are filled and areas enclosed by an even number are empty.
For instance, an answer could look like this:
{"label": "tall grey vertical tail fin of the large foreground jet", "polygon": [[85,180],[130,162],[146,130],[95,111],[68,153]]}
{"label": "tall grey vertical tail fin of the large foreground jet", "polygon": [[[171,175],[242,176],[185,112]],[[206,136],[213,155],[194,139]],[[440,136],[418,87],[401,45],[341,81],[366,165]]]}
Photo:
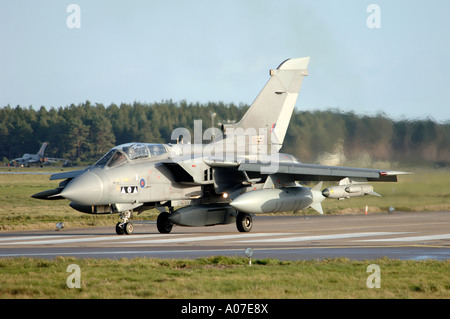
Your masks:
{"label": "tall grey vertical tail fin of the large foreground jet", "polygon": [[271,152],[283,145],[289,121],[297,101],[303,77],[308,75],[309,57],[288,59],[276,70],[270,70],[270,79],[236,124],[225,124],[225,136],[249,136],[250,144],[265,144]]}

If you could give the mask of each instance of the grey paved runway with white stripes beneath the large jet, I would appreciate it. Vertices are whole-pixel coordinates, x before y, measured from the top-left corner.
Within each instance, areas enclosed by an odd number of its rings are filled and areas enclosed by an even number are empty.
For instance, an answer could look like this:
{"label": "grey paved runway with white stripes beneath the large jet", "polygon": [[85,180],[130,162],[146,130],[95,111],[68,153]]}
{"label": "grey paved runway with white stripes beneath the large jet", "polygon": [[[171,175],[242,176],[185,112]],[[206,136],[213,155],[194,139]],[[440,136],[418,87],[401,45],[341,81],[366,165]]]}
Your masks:
{"label": "grey paved runway with white stripes beneath the large jet", "polygon": [[244,256],[252,248],[253,259],[450,259],[450,212],[254,216],[253,221],[249,233],[230,224],[159,234],[155,223],[135,225],[128,236],[116,235],[114,225],[1,232],[0,257],[198,258]]}

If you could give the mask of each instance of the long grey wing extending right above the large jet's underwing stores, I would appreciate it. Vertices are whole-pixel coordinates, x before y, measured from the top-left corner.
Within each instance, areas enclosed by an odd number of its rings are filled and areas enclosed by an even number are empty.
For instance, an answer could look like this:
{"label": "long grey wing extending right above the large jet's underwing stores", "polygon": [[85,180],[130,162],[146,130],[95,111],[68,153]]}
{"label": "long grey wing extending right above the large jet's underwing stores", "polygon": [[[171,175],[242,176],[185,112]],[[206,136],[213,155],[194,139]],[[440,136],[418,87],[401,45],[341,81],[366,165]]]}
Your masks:
{"label": "long grey wing extending right above the large jet's underwing stores", "polygon": [[[326,166],[304,163],[241,163],[239,171],[270,172],[271,174],[289,175],[296,181],[340,181],[343,178],[361,178],[367,181],[396,182],[397,175],[409,174],[400,171],[388,171],[369,168]],[[267,173],[266,173],[267,174]]]}

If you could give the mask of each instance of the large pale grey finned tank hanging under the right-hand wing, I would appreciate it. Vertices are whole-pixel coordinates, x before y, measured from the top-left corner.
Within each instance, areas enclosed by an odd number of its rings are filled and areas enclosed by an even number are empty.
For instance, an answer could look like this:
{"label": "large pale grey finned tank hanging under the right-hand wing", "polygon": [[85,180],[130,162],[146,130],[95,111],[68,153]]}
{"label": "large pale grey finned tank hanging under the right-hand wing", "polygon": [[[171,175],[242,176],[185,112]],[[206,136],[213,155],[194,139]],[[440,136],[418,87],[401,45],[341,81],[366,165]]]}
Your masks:
{"label": "large pale grey finned tank hanging under the right-hand wing", "polygon": [[244,213],[278,213],[299,211],[312,207],[323,214],[321,202],[322,182],[314,188],[293,186],[275,189],[261,189],[244,193],[230,203],[236,210]]}

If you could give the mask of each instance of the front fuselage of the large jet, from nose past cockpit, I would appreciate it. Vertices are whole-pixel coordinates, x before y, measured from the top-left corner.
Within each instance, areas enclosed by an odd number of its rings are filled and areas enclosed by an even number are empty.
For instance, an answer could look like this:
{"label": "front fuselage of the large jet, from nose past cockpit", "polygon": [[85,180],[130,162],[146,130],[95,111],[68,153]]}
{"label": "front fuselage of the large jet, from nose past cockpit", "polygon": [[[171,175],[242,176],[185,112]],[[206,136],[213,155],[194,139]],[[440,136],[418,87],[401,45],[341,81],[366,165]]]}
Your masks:
{"label": "front fuselage of the large jet, from nose past cockpit", "polygon": [[117,146],[74,178],[61,196],[79,205],[130,207],[200,196],[200,186],[177,183],[163,164],[169,161],[171,148],[144,143]]}

